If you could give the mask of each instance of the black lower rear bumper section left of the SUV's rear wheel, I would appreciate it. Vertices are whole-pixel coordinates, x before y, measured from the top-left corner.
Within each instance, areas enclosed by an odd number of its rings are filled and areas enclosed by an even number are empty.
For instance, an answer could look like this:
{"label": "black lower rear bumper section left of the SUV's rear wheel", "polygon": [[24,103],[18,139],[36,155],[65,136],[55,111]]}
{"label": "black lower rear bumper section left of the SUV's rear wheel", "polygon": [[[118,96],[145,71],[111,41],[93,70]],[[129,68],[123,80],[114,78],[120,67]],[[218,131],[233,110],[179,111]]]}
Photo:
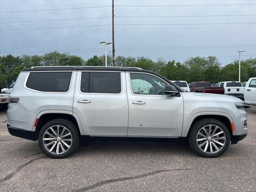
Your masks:
{"label": "black lower rear bumper section left of the SUV's rear wheel", "polygon": [[20,128],[11,127],[9,124],[7,124],[7,128],[8,128],[8,132],[12,136],[16,136],[16,137],[20,137],[20,138],[24,138],[32,141],[37,140],[36,132],[34,131],[28,131]]}

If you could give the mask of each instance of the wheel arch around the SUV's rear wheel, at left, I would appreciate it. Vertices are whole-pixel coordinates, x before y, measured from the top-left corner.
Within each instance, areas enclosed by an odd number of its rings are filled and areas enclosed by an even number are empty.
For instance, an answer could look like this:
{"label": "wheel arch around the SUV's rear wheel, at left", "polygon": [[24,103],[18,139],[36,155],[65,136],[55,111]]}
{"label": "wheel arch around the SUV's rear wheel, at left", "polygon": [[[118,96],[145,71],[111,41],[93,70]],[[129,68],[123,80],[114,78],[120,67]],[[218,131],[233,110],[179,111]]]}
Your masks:
{"label": "wheel arch around the SUV's rear wheel, at left", "polygon": [[[54,119],[66,119],[70,120],[72,123],[76,125],[76,128],[78,129],[79,135],[83,135],[82,125],[80,123],[80,120],[76,114],[70,111],[43,111],[40,112],[36,119],[34,120],[34,124],[36,120],[38,119],[36,127],[33,127],[33,131],[36,132],[36,137],[38,137],[39,131],[44,126],[46,122],[49,122]],[[33,124],[33,125],[34,125]]]}

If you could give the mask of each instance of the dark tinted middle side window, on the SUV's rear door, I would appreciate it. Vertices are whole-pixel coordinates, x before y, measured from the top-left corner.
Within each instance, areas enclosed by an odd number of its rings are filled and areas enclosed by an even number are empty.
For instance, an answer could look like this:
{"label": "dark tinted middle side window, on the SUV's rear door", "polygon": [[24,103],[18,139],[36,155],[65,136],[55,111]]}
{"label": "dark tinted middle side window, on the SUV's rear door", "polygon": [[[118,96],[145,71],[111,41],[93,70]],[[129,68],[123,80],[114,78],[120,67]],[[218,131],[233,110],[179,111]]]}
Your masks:
{"label": "dark tinted middle side window, on the SUV's rear door", "polygon": [[119,72],[82,72],[80,90],[83,93],[119,94],[121,74]]}

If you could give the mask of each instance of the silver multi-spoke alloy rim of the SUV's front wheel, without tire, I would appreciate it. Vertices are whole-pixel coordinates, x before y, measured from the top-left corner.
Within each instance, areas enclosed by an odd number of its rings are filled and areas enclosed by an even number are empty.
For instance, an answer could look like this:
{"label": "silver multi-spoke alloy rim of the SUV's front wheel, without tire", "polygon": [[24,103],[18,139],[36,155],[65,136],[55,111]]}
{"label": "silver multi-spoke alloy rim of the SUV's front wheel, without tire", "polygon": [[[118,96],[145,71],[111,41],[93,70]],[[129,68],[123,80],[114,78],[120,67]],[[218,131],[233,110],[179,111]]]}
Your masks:
{"label": "silver multi-spoke alloy rim of the SUV's front wheel, without tire", "polygon": [[214,154],[222,150],[226,135],[222,128],[216,125],[202,127],[196,135],[197,146],[205,153]]}

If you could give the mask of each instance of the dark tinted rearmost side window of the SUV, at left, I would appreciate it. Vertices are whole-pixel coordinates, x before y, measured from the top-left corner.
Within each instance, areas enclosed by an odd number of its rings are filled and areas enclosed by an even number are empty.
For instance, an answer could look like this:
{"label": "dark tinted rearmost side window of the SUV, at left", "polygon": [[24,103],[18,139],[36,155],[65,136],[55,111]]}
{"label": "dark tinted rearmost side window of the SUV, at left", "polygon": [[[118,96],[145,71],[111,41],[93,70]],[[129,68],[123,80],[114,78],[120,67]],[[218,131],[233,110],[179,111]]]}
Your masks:
{"label": "dark tinted rearmost side window of the SUV, at left", "polygon": [[41,92],[68,92],[72,72],[30,72],[26,87]]}

